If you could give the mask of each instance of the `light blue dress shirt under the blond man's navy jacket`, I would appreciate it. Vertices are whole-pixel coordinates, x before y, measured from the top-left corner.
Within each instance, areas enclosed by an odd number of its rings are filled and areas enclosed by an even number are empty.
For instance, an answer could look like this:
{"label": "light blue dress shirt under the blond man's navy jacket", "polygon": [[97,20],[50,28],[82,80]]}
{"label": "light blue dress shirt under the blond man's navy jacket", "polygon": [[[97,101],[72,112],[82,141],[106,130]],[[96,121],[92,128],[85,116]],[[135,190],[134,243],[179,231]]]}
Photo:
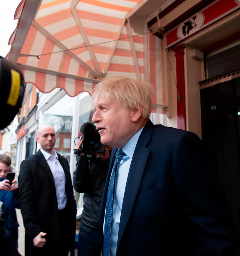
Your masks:
{"label": "light blue dress shirt under the blond man's navy jacket", "polygon": [[[126,154],[126,156],[123,156],[119,164],[117,183],[116,183],[116,192],[115,192],[115,198],[113,203],[112,232],[111,232],[111,255],[113,256],[116,255],[116,252],[117,252],[119,223],[120,223],[122,202],[123,202],[123,196],[124,196],[125,187],[128,179],[129,168],[130,168],[135,147],[137,145],[137,141],[139,139],[139,136],[142,130],[143,128],[139,130],[122,148],[122,151]],[[105,213],[106,213],[106,209],[105,209]],[[104,226],[105,226],[105,219],[104,219],[103,227]]]}

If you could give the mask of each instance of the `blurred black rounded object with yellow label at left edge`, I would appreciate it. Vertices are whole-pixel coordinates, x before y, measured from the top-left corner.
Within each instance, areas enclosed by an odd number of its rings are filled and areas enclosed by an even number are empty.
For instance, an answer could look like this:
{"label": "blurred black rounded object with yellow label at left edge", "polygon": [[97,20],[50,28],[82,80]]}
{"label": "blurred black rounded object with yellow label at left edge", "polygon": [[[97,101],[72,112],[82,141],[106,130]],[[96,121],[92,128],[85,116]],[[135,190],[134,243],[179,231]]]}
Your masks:
{"label": "blurred black rounded object with yellow label at left edge", "polygon": [[14,119],[22,106],[24,78],[17,64],[0,56],[0,130]]}

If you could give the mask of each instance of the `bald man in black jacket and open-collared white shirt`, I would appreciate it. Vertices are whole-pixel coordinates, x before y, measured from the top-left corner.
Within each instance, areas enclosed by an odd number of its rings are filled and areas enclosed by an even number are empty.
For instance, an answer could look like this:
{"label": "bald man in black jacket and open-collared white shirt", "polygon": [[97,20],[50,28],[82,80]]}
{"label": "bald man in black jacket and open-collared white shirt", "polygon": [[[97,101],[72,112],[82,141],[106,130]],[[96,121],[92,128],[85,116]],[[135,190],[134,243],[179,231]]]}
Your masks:
{"label": "bald man in black jacket and open-collared white shirt", "polygon": [[19,174],[25,256],[73,256],[76,203],[69,164],[53,150],[53,127],[40,127],[36,140],[41,149],[21,163]]}

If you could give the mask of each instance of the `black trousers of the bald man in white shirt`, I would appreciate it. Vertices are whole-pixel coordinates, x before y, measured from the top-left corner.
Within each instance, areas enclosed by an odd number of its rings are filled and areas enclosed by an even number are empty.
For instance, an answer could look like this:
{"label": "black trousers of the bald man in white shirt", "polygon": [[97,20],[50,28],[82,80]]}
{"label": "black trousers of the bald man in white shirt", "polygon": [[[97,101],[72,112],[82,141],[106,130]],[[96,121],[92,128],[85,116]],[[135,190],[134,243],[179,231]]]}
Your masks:
{"label": "black trousers of the bald man in white shirt", "polygon": [[61,246],[61,256],[68,256],[70,251],[70,228],[67,223],[67,211],[66,208],[58,211],[58,221],[60,226],[60,246]]}

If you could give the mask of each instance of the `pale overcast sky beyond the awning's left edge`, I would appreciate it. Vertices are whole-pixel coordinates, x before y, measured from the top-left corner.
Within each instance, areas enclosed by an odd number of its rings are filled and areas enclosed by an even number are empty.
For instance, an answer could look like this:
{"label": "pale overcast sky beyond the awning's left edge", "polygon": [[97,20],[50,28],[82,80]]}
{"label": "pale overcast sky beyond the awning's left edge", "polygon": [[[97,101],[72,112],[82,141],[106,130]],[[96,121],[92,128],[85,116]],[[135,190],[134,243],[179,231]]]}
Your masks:
{"label": "pale overcast sky beyond the awning's left edge", "polygon": [[21,0],[0,0],[0,55],[5,57],[11,49],[9,38],[16,28],[14,13]]}

